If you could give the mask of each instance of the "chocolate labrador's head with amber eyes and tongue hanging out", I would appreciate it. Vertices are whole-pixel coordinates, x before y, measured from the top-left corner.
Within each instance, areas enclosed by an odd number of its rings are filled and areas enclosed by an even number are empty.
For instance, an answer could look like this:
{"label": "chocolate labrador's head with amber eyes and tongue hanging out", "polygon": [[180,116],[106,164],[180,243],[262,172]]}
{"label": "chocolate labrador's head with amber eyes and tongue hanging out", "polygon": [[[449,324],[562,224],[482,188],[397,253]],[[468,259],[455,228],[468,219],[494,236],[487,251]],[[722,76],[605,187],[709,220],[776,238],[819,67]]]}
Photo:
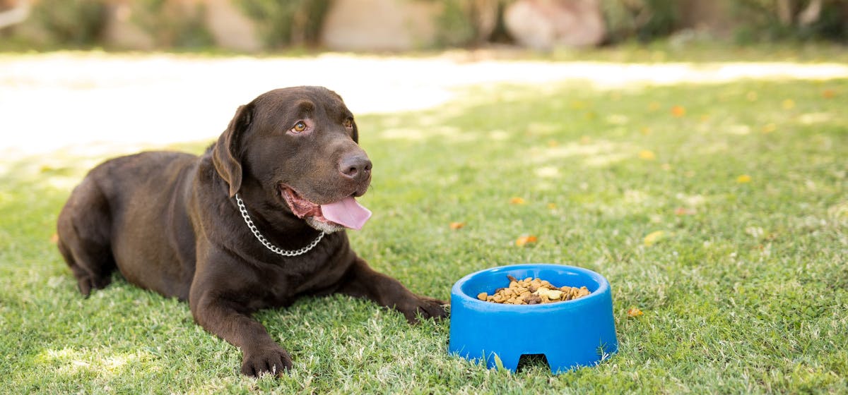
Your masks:
{"label": "chocolate labrador's head with amber eyes and tongue hanging out", "polygon": [[358,141],[341,96],[298,86],[238,107],[212,149],[212,161],[231,197],[249,181],[273,196],[272,205],[335,232],[360,228],[371,214],[354,200],[371,184],[371,161]]}

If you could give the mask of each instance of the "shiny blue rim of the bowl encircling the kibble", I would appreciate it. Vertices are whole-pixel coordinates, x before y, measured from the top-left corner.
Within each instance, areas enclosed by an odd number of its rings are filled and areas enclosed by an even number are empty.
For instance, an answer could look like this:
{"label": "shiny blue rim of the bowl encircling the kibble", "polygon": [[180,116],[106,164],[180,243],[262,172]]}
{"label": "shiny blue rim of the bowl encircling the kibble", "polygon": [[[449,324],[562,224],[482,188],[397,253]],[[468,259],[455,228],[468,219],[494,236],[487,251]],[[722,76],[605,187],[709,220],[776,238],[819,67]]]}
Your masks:
{"label": "shiny blue rim of the bowl encircling the kibble", "polygon": [[[545,303],[545,304],[499,304],[494,302],[488,302],[485,300],[477,299],[476,297],[472,297],[471,295],[466,294],[462,291],[462,286],[471,280],[472,277],[477,277],[486,272],[496,272],[496,271],[504,271],[508,272],[510,270],[522,270],[522,269],[565,269],[568,272],[582,272],[583,274],[592,277],[596,280],[600,287],[595,289],[588,296],[584,296],[583,298],[574,299],[574,300],[566,300],[564,302],[556,302],[556,303]],[[522,309],[559,309],[563,307],[577,307],[581,304],[589,304],[594,301],[594,299],[603,297],[604,294],[610,293],[610,282],[604,277],[601,276],[600,273],[591,271],[589,269],[579,267],[579,266],[571,266],[571,265],[562,265],[555,263],[516,263],[516,264],[507,264],[504,266],[493,266],[488,267],[487,269],[478,270],[477,272],[472,272],[467,274],[466,276],[460,278],[454,286],[450,288],[451,297],[456,296],[460,298],[461,301],[465,303],[477,304],[479,306],[486,306],[487,308],[494,309],[514,309],[514,310],[522,310]]]}

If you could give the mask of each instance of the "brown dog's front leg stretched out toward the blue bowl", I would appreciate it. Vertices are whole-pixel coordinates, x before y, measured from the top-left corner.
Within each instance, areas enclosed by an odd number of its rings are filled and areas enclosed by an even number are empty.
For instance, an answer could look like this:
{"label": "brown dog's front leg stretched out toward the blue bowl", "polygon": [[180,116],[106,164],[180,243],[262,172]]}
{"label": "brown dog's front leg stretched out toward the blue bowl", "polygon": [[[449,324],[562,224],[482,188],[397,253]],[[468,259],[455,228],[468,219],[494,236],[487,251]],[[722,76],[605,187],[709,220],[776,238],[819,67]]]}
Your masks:
{"label": "brown dog's front leg stretched out toward the blue bowl", "polygon": [[416,322],[418,317],[441,318],[447,315],[443,300],[413,294],[398,280],[375,272],[360,257],[350,266],[347,281],[339,292],[358,298],[368,298],[382,306],[404,313],[407,321]]}

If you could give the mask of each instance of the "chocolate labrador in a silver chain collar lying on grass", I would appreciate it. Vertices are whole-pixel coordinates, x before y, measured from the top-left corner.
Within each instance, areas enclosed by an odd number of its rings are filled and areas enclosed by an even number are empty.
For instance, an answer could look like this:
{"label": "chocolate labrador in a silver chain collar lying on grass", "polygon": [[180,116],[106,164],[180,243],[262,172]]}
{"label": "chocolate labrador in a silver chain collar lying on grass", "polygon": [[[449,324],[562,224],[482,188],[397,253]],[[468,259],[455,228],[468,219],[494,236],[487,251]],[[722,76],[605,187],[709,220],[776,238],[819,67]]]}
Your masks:
{"label": "chocolate labrador in a silver chain collar lying on grass", "polygon": [[130,283],[187,300],[194,320],[243,352],[242,372],[282,374],[287,351],[251,318],[304,295],[343,293],[414,322],[444,302],[375,272],[345,228],[371,215],[353,114],[316,86],[269,91],[238,107],[201,156],[142,152],[92,169],[59,214],[59,251],[80,292]]}

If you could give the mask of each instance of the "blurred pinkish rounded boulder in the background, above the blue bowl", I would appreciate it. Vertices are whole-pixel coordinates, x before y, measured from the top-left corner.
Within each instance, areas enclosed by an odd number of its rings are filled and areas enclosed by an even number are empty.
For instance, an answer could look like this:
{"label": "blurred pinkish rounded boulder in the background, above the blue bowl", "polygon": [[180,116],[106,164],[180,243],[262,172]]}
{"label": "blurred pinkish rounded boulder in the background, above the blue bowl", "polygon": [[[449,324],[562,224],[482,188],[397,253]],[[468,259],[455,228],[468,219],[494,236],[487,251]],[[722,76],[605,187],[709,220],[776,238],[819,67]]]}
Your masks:
{"label": "blurred pinkish rounded boulder in the background, above the blue bowl", "polygon": [[600,0],[518,0],[504,22],[519,44],[538,50],[594,47],[606,35]]}

